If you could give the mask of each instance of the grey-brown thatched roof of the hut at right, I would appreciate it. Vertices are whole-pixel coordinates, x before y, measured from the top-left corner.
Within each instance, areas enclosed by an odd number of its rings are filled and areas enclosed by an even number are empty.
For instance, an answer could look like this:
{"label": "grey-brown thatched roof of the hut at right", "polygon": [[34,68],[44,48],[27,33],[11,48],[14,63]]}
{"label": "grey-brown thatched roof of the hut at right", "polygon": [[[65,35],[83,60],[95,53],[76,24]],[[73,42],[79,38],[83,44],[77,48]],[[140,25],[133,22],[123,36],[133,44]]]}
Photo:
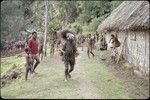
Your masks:
{"label": "grey-brown thatched roof of the hut at right", "polygon": [[97,31],[149,30],[149,2],[124,1],[119,5]]}

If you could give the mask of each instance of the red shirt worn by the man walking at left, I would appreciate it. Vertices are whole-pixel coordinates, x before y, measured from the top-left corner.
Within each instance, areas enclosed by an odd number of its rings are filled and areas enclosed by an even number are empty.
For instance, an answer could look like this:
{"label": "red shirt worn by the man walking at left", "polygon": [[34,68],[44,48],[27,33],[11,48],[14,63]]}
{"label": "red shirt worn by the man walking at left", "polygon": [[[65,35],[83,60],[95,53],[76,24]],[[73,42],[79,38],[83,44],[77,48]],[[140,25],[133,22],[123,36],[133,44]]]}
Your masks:
{"label": "red shirt worn by the man walking at left", "polygon": [[39,46],[39,41],[38,39],[34,39],[31,37],[28,41],[28,46],[31,49],[31,54],[37,54],[38,53],[38,46]]}

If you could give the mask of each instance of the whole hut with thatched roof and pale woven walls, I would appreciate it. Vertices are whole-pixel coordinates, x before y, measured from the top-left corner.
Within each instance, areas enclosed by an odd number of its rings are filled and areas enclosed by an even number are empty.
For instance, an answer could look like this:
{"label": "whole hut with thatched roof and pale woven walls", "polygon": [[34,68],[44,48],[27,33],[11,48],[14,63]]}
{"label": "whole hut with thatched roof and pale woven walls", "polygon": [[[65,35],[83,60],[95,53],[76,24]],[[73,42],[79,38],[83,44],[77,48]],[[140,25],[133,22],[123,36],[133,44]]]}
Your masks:
{"label": "whole hut with thatched roof and pale woven walls", "polygon": [[121,42],[119,54],[140,71],[149,72],[149,2],[124,1],[98,27],[97,32],[115,34]]}

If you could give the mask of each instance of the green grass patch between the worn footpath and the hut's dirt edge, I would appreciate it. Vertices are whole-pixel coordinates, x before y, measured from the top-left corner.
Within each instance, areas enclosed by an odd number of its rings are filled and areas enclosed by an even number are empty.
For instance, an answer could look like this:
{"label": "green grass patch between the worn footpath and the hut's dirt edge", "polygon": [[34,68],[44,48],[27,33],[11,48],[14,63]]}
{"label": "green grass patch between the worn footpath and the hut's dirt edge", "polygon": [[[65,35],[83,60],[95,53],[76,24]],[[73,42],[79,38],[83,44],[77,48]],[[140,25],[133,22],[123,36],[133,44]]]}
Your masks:
{"label": "green grass patch between the worn footpath and the hut's dirt edge", "polygon": [[84,59],[81,61],[82,70],[95,87],[98,94],[107,99],[129,99],[124,84],[108,71],[107,66],[99,63],[96,59]]}

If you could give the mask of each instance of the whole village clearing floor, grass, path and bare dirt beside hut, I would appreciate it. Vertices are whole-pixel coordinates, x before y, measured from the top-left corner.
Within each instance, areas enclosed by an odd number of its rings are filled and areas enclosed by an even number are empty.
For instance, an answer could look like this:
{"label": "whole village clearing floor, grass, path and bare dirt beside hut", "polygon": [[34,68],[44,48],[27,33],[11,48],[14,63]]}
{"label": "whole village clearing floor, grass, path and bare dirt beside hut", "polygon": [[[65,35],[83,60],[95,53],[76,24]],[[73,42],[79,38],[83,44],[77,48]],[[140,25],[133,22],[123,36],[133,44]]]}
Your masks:
{"label": "whole village clearing floor, grass, path and bare dirt beside hut", "polygon": [[[29,75],[25,81],[13,80],[1,88],[1,97],[45,98],[45,99],[146,99],[149,97],[149,80],[140,78],[114,64],[107,51],[94,51],[96,56],[88,58],[86,48],[78,48],[72,78],[64,81],[64,64],[59,53],[47,56],[37,67],[38,74]],[[105,55],[105,56],[104,56]],[[105,57],[105,58],[104,58]],[[23,57],[22,57],[23,58]],[[102,59],[103,58],[103,59]],[[3,66],[1,66],[2,68]]]}

